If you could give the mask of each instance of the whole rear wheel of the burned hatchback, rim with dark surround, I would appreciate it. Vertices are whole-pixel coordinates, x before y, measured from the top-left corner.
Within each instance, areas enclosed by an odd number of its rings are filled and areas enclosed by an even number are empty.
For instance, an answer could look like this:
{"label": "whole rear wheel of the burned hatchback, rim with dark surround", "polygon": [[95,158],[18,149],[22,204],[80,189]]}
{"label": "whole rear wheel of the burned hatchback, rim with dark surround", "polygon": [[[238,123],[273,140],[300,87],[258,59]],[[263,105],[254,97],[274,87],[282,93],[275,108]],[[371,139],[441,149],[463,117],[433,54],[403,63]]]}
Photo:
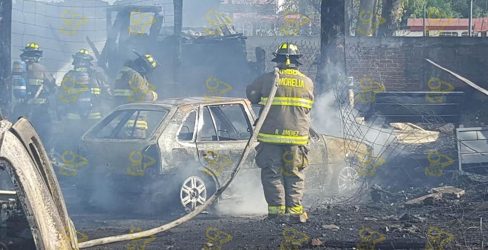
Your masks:
{"label": "whole rear wheel of the burned hatchback, rim with dark surround", "polygon": [[180,203],[185,211],[193,211],[215,193],[215,184],[210,178],[192,175],[180,187]]}

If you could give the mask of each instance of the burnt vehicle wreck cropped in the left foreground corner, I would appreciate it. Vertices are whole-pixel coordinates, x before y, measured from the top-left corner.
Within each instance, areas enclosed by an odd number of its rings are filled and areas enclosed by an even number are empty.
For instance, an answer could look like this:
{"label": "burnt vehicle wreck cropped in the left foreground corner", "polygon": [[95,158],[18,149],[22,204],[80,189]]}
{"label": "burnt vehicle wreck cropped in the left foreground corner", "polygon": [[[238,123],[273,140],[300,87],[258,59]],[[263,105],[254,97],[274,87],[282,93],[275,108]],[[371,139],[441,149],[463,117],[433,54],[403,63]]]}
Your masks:
{"label": "burnt vehicle wreck cropped in the left foreground corner", "polygon": [[78,249],[58,180],[30,122],[0,114],[0,249]]}

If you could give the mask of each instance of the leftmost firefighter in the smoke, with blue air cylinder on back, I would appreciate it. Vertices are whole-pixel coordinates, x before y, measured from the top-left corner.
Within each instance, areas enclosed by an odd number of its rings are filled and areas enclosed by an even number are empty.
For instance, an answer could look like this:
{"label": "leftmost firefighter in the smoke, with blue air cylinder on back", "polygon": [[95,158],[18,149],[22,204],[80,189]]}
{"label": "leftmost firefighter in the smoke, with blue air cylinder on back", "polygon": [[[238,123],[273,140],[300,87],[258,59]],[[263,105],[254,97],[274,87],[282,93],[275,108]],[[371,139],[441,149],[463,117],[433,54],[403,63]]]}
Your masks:
{"label": "leftmost firefighter in the smoke, with blue air cylinder on back", "polygon": [[22,62],[14,62],[12,67],[13,90],[17,99],[13,113],[15,117],[27,117],[43,142],[50,146],[48,140],[54,114],[49,108],[48,99],[58,86],[52,74],[39,63],[43,51],[38,44],[28,43],[22,51]]}

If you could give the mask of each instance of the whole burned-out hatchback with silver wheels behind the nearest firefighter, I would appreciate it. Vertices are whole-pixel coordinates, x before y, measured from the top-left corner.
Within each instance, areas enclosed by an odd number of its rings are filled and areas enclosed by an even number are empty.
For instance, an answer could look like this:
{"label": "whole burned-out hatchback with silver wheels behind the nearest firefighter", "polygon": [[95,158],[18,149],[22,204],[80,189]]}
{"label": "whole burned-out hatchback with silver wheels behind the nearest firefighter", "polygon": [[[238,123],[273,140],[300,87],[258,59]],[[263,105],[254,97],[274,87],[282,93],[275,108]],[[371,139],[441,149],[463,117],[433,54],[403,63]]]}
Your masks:
{"label": "whole burned-out hatchback with silver wheels behind the nearest firefighter", "polygon": [[[242,98],[177,98],[119,106],[82,138],[77,156],[88,164],[73,179],[83,190],[80,200],[105,207],[124,200],[123,207],[133,211],[171,204],[193,210],[236,166],[255,119],[250,102]],[[137,131],[141,126],[144,133]],[[344,160],[343,139],[314,129],[310,138],[306,194],[330,189],[331,183],[337,189],[344,164],[334,163]],[[241,171],[258,170],[255,154],[250,153]],[[142,201],[151,205],[141,206]]]}

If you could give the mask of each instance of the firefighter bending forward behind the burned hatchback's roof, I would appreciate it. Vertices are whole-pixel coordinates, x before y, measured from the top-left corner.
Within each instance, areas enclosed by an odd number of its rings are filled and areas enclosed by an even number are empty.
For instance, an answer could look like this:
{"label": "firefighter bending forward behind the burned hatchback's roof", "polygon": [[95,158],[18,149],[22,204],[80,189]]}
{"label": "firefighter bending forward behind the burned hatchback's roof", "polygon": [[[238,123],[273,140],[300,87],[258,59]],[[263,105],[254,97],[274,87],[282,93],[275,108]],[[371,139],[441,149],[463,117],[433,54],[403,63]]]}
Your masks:
{"label": "firefighter bending forward behind the burned hatchback's roof", "polygon": [[[140,55],[136,51],[134,53],[138,57],[125,63],[115,81],[112,95],[114,95],[116,106],[158,99],[158,94],[155,92],[156,87],[147,82],[147,77],[159,66],[158,61],[150,54]],[[135,120],[136,118],[137,120]],[[144,111],[129,119],[125,129],[128,139],[145,138],[148,126]]]}

